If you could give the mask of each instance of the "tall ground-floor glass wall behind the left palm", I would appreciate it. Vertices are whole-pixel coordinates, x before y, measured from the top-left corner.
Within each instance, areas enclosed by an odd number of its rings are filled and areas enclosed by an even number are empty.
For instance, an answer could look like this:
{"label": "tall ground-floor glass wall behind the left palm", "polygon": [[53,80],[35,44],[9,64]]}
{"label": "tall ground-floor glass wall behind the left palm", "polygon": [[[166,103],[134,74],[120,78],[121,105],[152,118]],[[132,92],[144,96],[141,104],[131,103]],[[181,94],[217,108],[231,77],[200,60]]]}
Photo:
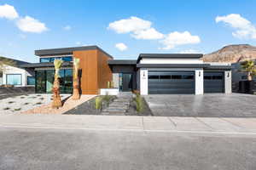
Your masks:
{"label": "tall ground-floor glass wall behind the left palm", "polygon": [[[72,94],[73,92],[73,71],[66,69],[60,71],[60,92],[61,94]],[[36,71],[36,93],[50,94],[54,83],[55,71]]]}

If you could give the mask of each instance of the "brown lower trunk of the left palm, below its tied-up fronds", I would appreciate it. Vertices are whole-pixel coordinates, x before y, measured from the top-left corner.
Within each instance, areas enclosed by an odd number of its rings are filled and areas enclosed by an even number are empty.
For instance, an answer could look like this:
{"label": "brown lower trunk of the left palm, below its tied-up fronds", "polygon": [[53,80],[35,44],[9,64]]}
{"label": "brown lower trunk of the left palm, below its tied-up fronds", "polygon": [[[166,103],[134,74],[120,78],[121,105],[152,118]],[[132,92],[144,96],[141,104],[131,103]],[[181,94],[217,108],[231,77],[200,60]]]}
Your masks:
{"label": "brown lower trunk of the left palm, below its tied-up fronds", "polygon": [[60,81],[58,77],[55,77],[55,82],[52,88],[53,91],[53,101],[52,101],[52,108],[59,108],[62,106],[61,103],[61,95],[60,95]]}

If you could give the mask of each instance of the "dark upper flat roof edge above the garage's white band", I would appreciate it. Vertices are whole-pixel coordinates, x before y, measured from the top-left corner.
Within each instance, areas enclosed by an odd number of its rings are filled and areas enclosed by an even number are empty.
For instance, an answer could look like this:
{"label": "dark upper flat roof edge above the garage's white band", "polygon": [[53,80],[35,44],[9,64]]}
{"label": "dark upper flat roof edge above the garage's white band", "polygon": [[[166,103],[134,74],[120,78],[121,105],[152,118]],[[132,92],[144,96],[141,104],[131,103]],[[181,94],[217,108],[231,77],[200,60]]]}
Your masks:
{"label": "dark upper flat roof edge above the garage's white band", "polygon": [[139,54],[137,63],[141,59],[200,59],[203,54]]}

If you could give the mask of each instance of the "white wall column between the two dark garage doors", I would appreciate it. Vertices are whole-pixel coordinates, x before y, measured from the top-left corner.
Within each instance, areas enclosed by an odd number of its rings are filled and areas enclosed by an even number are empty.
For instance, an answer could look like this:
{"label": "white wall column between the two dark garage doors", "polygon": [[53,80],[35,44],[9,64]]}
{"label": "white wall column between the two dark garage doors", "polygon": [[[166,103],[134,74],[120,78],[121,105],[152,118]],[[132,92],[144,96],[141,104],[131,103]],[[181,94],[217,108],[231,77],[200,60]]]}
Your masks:
{"label": "white wall column between the two dark garage doors", "polygon": [[195,71],[195,94],[204,94],[204,71]]}

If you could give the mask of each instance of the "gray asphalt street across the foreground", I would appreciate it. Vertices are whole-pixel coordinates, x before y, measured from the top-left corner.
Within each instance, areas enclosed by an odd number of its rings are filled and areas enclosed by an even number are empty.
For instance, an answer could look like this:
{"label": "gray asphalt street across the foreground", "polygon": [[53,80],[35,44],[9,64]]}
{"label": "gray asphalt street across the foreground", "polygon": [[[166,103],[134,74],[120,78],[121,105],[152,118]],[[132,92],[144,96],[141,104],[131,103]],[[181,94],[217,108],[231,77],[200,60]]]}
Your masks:
{"label": "gray asphalt street across the foreground", "polygon": [[256,135],[0,128],[0,169],[256,169]]}

